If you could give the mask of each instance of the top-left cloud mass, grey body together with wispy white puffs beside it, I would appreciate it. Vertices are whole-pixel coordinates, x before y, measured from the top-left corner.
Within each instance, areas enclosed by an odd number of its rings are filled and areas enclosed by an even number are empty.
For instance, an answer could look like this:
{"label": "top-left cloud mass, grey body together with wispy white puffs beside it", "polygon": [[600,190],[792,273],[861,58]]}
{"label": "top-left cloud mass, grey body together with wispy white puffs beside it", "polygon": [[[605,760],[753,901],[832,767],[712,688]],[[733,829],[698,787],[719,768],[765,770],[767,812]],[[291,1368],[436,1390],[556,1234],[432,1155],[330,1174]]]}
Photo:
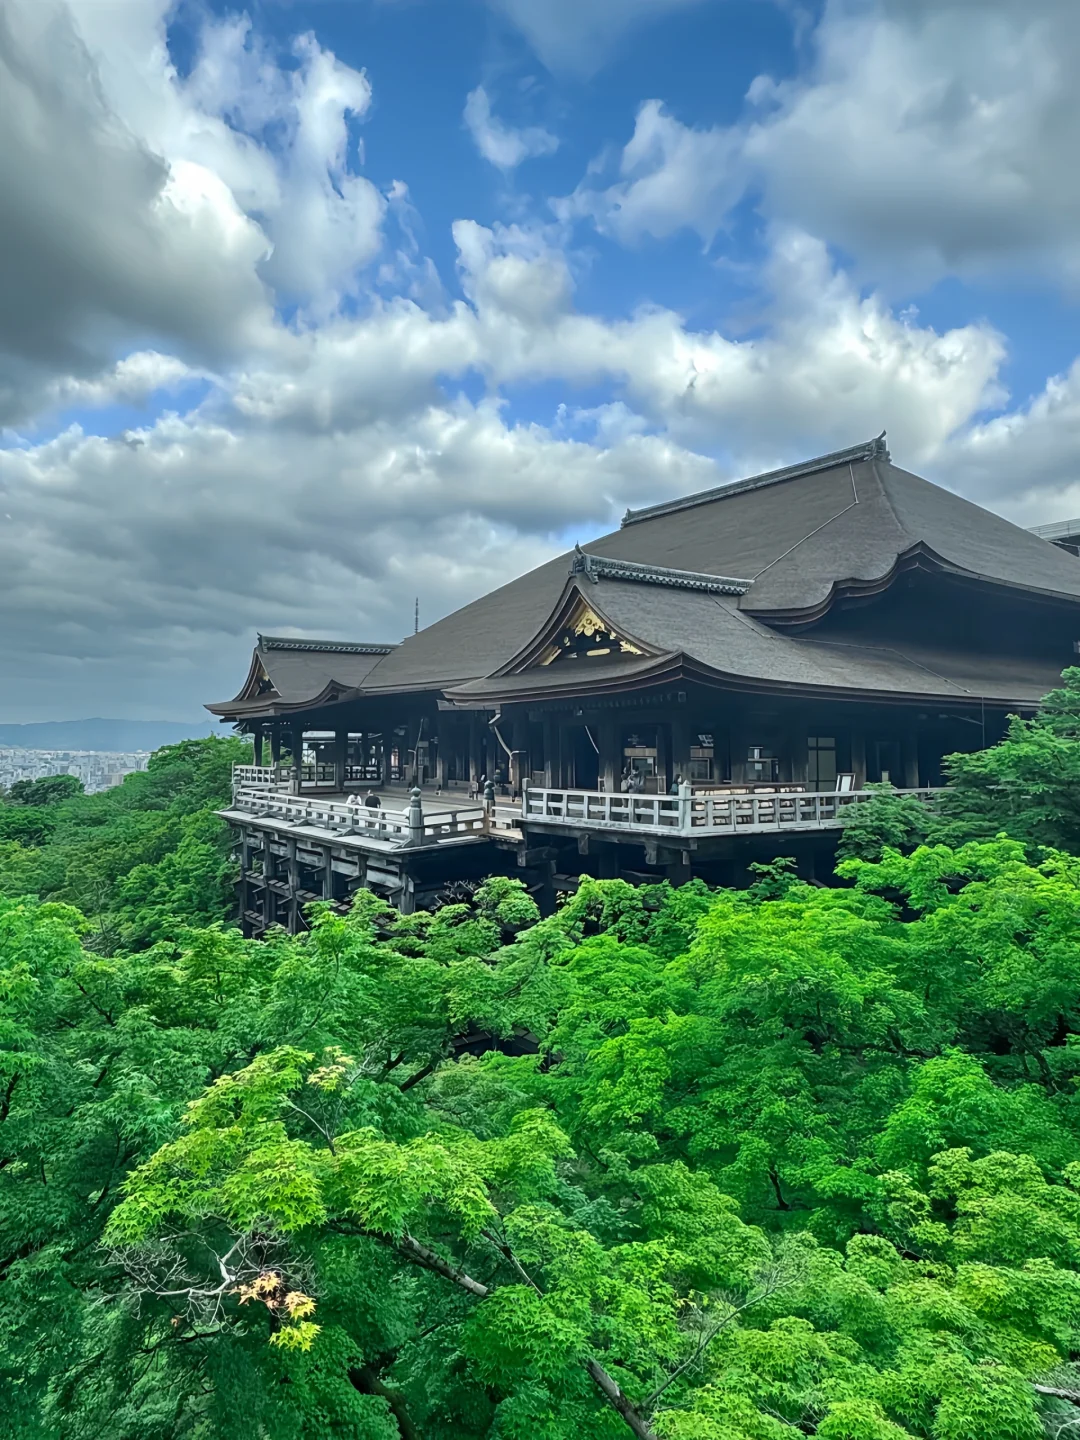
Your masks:
{"label": "top-left cloud mass, grey body together with wispy white puffs beside it", "polygon": [[333,308],[379,251],[386,202],[347,153],[366,76],[311,36],[278,65],[228,20],[181,82],[166,12],[0,9],[0,423],[132,341],[235,361],[269,343],[274,292]]}

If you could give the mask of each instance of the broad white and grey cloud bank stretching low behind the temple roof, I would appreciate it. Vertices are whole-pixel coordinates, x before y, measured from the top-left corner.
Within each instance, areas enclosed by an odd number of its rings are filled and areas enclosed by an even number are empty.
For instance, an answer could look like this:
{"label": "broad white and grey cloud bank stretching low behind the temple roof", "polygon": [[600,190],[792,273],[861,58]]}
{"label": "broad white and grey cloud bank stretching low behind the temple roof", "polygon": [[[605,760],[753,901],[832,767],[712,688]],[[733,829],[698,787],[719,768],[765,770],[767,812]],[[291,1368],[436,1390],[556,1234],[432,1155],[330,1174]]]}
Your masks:
{"label": "broad white and grey cloud bank stretching low behind the temple roof", "polygon": [[[281,331],[189,413],[0,451],[12,672],[66,667],[91,696],[127,665],[128,696],[190,707],[236,683],[256,626],[395,638],[416,593],[445,613],[626,505],[883,423],[904,458],[930,454],[994,390],[992,331],[899,320],[805,236],[776,236],[762,340],[582,314],[553,236],[456,236],[468,300],[444,312],[397,298]],[[128,384],[154,374],[183,377],[131,357]],[[549,426],[505,415],[500,386],[552,377],[616,399]]]}

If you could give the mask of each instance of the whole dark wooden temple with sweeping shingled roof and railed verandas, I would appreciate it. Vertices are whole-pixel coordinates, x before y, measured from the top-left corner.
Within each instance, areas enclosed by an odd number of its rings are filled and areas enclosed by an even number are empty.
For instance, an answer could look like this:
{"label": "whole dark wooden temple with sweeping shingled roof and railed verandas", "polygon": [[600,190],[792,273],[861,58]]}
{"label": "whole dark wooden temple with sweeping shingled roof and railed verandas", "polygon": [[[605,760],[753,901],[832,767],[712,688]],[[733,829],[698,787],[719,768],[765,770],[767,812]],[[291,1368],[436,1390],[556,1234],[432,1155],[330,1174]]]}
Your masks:
{"label": "whole dark wooden temple with sweeping shingled roof and railed verandas", "polygon": [[225,812],[243,923],[491,871],[546,906],[583,873],[737,883],[788,854],[812,876],[865,786],[932,793],[1074,661],[1077,533],[1022,530],[878,436],[628,511],[400,644],[261,635],[207,706],[255,742]]}

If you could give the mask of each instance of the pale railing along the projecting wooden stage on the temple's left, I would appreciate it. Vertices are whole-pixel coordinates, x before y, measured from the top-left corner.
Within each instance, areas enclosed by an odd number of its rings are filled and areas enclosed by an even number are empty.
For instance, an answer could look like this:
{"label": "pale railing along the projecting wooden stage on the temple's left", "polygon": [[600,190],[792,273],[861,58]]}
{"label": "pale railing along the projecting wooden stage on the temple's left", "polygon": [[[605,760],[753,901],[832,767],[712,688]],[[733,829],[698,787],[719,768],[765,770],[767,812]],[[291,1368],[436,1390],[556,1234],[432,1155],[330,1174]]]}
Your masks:
{"label": "pale railing along the projecting wooden stage on the temple's left", "polygon": [[314,795],[289,795],[285,791],[240,786],[233,793],[233,809],[276,819],[287,827],[305,825],[336,835],[386,841],[400,847],[433,845],[441,840],[459,840],[482,835],[487,831],[482,805],[425,815],[419,805],[408,809],[382,806],[376,809],[367,805],[347,805],[344,801],[323,801]]}

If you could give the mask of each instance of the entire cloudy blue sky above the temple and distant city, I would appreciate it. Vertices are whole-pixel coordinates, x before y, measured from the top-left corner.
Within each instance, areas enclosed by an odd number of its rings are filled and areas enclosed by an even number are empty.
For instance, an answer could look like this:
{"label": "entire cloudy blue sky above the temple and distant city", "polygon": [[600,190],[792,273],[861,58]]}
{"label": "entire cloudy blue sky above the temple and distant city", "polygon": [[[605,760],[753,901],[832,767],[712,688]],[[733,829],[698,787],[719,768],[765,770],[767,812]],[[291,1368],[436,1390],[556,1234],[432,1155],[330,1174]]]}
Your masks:
{"label": "entire cloudy blue sky above the temple and distant city", "polygon": [[1076,0],[3,0],[0,720],[857,444],[1080,516]]}

